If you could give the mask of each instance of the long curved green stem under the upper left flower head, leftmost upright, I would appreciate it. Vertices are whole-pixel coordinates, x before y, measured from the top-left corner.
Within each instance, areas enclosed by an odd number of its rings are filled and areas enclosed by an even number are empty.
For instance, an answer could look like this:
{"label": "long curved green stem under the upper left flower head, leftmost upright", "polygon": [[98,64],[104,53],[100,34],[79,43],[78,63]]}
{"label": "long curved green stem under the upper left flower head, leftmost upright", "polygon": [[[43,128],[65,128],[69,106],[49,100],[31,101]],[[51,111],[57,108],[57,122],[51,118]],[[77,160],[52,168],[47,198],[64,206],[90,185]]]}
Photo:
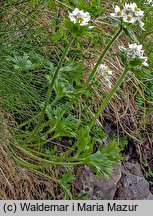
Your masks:
{"label": "long curved green stem under the upper left flower head, leftmost upright", "polygon": [[57,76],[58,76],[58,74],[59,74],[60,68],[61,68],[61,66],[62,66],[62,64],[63,64],[63,62],[64,62],[64,59],[65,59],[65,57],[66,57],[66,55],[67,55],[67,53],[68,53],[68,51],[69,51],[69,49],[70,49],[70,47],[71,47],[73,41],[74,41],[74,38],[70,41],[69,45],[68,45],[67,48],[65,49],[65,51],[64,51],[64,53],[63,53],[63,55],[62,55],[62,57],[61,57],[61,59],[60,59],[60,61],[59,61],[59,64],[58,64],[58,66],[57,66],[57,68],[56,68],[56,70],[55,70],[55,72],[54,72],[54,76],[53,76],[52,82],[51,82],[50,87],[49,87],[49,89],[48,89],[48,92],[47,92],[47,95],[46,95],[46,99],[45,99],[45,103],[44,103],[42,112],[41,112],[41,114],[40,114],[38,123],[37,123],[35,129],[33,130],[31,136],[29,137],[29,139],[26,140],[27,142],[29,142],[29,141],[31,140],[31,137],[33,137],[33,136],[37,133],[37,131],[39,130],[39,127],[40,127],[40,125],[41,125],[41,123],[42,123],[42,120],[43,120],[43,118],[44,118],[44,115],[45,115],[46,107],[47,107],[47,105],[48,105],[48,103],[49,103],[49,100],[50,100],[50,96],[51,96],[51,93],[52,93],[52,90],[53,90],[53,87],[54,87],[56,78],[57,78]]}

